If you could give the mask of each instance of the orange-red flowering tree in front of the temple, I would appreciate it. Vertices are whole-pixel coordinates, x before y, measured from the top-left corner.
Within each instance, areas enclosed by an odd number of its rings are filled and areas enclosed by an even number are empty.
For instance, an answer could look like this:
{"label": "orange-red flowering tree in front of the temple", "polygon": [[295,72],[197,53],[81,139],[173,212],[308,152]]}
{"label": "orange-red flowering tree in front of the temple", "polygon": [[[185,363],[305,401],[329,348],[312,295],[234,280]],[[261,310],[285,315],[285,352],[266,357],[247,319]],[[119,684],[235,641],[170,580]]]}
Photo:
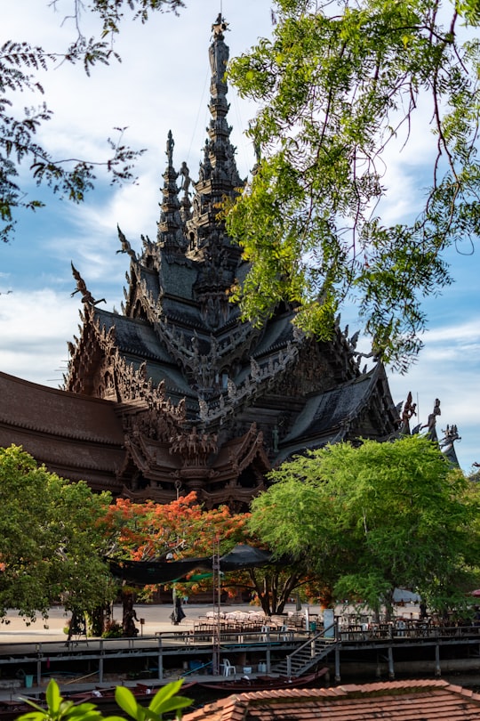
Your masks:
{"label": "orange-red flowering tree in front of the temple", "polygon": [[[220,555],[237,543],[264,546],[246,530],[248,518],[249,514],[231,514],[227,506],[204,510],[195,492],[164,506],[119,498],[108,510],[104,532],[111,554],[118,558],[149,561],[172,555],[172,559],[181,560],[212,556],[216,539],[220,540]],[[239,589],[256,595],[263,611],[271,615],[282,613],[295,588],[309,579],[302,561],[286,563],[283,559],[275,566],[229,571],[222,577],[221,586],[231,596]],[[194,572],[175,586],[179,594],[195,595],[212,590],[212,577],[205,571]],[[151,595],[152,590],[146,587],[142,595]],[[131,601],[132,588],[125,587],[125,608]]]}

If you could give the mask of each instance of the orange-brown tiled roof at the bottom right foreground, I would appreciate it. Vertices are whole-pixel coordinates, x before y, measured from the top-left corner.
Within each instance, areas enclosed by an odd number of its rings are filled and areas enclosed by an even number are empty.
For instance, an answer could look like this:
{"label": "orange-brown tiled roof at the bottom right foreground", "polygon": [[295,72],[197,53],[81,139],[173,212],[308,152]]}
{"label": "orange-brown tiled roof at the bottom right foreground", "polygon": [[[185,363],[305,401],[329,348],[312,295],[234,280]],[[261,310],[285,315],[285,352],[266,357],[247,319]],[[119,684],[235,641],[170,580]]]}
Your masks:
{"label": "orange-brown tiled roof at the bottom right foreground", "polygon": [[238,693],[183,721],[477,721],[480,694],[440,679]]}

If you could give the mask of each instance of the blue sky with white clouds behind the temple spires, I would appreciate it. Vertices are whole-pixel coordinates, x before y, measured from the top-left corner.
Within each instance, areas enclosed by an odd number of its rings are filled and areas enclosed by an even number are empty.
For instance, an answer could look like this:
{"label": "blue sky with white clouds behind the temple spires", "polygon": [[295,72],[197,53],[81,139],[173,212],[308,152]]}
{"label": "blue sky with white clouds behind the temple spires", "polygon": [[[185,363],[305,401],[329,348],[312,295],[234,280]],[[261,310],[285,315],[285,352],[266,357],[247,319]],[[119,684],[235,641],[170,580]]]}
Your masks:
{"label": "blue sky with white clouds behind the temple spires", "polygon": [[[61,52],[75,38],[68,18],[74,0],[15,0],[4,3],[0,41],[25,40],[45,50]],[[179,17],[156,13],[146,24],[125,19],[116,41],[122,62],[92,69],[68,63],[42,75],[44,97],[23,93],[19,107],[45,101],[54,115],[38,135],[53,158],[108,158],[107,139],[114,128],[126,128],[124,141],[147,149],[136,166],[138,180],[122,187],[100,179],[79,206],[31,190],[46,207],[19,215],[14,239],[0,247],[0,370],[36,383],[59,387],[67,368],[67,342],[78,335],[81,302],[70,294],[76,283],[73,262],[96,298],[105,297],[108,310],[120,310],[128,271],[116,226],[136,250],[141,235],[156,237],[160,188],[163,184],[166,138],[172,130],[174,165],[187,161],[195,179],[206,137],[210,66],[208,46],[218,12],[228,21],[230,57],[243,53],[262,36],[270,36],[268,0],[187,0]],[[97,26],[84,12],[84,34]],[[254,116],[252,103],[241,101],[229,88],[228,122],[237,149],[237,166],[246,177],[254,164],[252,143],[244,136]],[[383,209],[383,220],[401,222],[420,197],[431,159],[433,140],[413,126],[411,142],[389,158],[388,183],[394,190]],[[27,168],[20,172],[26,181]],[[465,242],[448,254],[455,282],[441,295],[428,298],[425,347],[409,372],[388,370],[393,399],[404,402],[409,391],[417,402],[418,423],[427,423],[436,398],[442,415],[437,432],[457,425],[460,466],[469,474],[480,462],[480,262]],[[9,292],[11,291],[11,292]],[[352,309],[346,313],[350,334],[356,327]],[[343,319],[343,316],[342,316]],[[0,399],[1,402],[1,399]]]}

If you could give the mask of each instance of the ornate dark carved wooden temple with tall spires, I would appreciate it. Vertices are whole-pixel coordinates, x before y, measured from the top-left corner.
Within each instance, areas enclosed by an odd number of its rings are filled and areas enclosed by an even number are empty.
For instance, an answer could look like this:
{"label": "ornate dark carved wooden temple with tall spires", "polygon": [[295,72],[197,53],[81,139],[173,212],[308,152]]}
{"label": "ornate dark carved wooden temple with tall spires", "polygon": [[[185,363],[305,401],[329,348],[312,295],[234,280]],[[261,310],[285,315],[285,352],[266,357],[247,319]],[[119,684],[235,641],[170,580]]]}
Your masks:
{"label": "ornate dark carved wooden temple with tall spires", "polygon": [[329,342],[292,325],[281,304],[261,328],[240,319],[229,288],[247,271],[219,204],[243,185],[228,126],[223,19],[209,58],[211,121],[198,178],[174,166],[169,134],[156,239],[129,259],[122,312],[92,298],[74,270],[82,328],[63,390],[0,374],[0,445],[95,490],[166,503],[196,490],[245,510],[286,458],[362,436],[385,441],[402,421],[380,362],[360,369],[356,336]]}

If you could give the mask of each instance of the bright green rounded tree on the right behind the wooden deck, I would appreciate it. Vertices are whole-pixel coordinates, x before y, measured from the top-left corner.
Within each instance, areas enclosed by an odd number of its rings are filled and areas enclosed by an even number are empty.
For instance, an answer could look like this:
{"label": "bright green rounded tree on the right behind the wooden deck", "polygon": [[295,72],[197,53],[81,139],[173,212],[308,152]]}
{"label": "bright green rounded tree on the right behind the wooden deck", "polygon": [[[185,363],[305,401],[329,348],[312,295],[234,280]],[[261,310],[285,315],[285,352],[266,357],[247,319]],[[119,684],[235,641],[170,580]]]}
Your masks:
{"label": "bright green rounded tree on the right behind the wooden deck", "polygon": [[249,523],[277,554],[309,559],[337,597],[391,607],[395,587],[437,610],[478,582],[479,495],[436,444],[339,443],[294,458],[252,503]]}

